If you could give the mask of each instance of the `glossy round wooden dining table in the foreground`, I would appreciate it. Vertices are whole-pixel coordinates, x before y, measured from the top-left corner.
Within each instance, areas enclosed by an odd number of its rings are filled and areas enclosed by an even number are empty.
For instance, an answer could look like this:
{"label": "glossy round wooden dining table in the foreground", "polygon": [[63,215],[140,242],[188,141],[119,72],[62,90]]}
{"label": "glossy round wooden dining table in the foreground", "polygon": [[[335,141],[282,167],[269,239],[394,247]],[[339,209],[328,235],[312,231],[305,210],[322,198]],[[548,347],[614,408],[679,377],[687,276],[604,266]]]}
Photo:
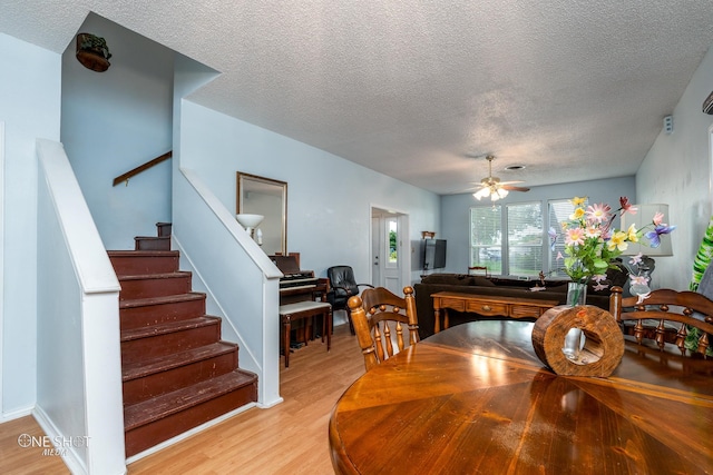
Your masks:
{"label": "glossy round wooden dining table in the foreground", "polygon": [[332,412],[334,471],[713,474],[713,360],[626,342],[612,376],[557,376],[531,331],[468,323],[372,368]]}

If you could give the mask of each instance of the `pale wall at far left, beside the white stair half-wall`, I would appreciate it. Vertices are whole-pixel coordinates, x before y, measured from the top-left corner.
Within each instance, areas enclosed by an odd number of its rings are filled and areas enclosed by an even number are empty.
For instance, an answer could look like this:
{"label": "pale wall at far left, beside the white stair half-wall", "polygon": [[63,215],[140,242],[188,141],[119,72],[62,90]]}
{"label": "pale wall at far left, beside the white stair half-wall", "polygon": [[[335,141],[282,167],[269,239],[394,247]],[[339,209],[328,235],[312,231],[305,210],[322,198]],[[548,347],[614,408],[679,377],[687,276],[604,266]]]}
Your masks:
{"label": "pale wall at far left, beside the white stair half-wall", "polygon": [[0,419],[29,414],[36,402],[36,139],[59,140],[60,59],[0,33],[0,121],[6,122]]}

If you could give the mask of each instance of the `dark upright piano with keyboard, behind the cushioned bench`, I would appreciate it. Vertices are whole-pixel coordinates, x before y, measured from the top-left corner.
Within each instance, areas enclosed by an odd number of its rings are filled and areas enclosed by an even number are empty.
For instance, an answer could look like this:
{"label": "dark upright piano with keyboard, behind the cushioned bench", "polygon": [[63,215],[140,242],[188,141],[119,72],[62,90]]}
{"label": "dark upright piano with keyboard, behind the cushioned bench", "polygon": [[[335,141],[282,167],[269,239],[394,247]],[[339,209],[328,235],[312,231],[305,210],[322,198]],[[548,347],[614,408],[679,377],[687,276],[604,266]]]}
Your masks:
{"label": "dark upright piano with keyboard, behind the cushioned bench", "polygon": [[[300,253],[268,257],[284,274],[284,277],[280,279],[280,305],[304,300],[326,301],[329,279],[314,277],[314,270],[300,269]],[[318,328],[321,326],[318,325]],[[292,342],[299,344],[314,338],[314,328],[311,323],[303,327],[293,325],[293,331],[295,335],[292,337]]]}

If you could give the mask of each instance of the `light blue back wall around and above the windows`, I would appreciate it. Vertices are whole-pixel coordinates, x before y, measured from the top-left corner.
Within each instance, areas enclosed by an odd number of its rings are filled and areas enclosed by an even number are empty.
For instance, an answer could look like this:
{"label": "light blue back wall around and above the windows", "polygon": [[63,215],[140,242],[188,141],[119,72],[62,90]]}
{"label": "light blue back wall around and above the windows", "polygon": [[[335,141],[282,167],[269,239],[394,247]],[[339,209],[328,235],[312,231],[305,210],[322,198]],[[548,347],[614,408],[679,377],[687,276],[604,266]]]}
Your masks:
{"label": "light blue back wall around and above the windows", "polygon": [[[557,172],[556,167],[553,172]],[[570,199],[586,196],[589,202],[606,202],[613,209],[618,208],[619,197],[626,196],[636,200],[634,177],[614,178],[609,180],[580,181],[564,185],[533,187],[528,192],[510,192],[499,204],[540,201],[547,209],[548,199]],[[447,268],[445,273],[468,271],[470,258],[470,208],[490,206],[491,201],[478,201],[472,194],[450,195],[441,198],[441,229],[443,239],[448,240]],[[618,226],[618,224],[617,224]]]}

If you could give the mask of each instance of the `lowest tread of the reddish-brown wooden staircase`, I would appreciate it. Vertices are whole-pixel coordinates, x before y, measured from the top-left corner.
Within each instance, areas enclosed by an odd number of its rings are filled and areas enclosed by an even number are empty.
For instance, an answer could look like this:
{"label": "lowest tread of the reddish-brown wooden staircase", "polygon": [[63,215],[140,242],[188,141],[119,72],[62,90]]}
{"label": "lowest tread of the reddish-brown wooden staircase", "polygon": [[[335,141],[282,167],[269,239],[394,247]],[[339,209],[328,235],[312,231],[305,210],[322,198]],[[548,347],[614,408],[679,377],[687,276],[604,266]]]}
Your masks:
{"label": "lowest tread of the reddish-brown wooden staircase", "polygon": [[256,380],[255,374],[235,369],[173,393],[127,406],[124,408],[125,431],[128,432],[162,417],[179,413],[203,402],[254,384]]}

